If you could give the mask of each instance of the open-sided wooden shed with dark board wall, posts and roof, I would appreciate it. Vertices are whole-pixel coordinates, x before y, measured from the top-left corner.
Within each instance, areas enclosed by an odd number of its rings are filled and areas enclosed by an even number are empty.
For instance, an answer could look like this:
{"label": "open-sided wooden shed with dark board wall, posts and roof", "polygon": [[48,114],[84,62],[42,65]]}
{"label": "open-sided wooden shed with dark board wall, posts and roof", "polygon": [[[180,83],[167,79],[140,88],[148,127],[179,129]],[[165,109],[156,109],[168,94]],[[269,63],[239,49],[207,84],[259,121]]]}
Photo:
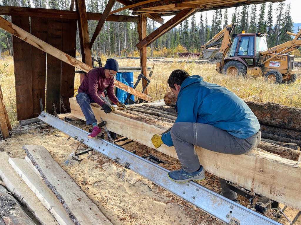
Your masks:
{"label": "open-sided wooden shed with dark board wall, posts and roof", "polygon": [[[84,72],[92,69],[91,47],[106,20],[138,23],[136,46],[140,51],[141,71],[146,74],[147,46],[194,13],[279,0],[118,0],[125,6],[111,11],[115,1],[109,0],[103,13],[86,12],[84,0],[72,0],[70,10],[0,6],[0,15],[11,16],[11,22],[0,17],[0,27],[14,35],[18,120],[38,116],[39,99],[45,99],[45,86],[46,106],[43,107],[51,114],[69,112],[68,99],[74,95],[74,67]],[[135,16],[114,14],[125,9],[133,10]],[[167,15],[174,16],[164,23],[162,16]],[[162,24],[149,35],[146,34],[146,17]],[[88,20],[99,21],[91,40]],[[83,62],[74,58],[77,25]],[[143,94],[117,81],[115,86],[151,101],[147,89]]]}

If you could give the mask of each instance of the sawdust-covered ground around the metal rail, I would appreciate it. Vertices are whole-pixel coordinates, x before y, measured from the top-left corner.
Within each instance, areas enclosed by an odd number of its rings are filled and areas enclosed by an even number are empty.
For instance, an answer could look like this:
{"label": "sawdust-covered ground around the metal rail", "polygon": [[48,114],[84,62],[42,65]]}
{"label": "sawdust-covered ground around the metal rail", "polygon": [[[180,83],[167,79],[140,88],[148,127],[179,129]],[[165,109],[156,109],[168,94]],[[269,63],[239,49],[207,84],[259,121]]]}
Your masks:
{"label": "sawdust-covered ground around the metal rail", "polygon": [[[72,124],[88,131],[89,127],[83,121],[72,122]],[[119,145],[127,141],[129,140],[119,142]],[[6,152],[12,158],[24,158],[26,153],[22,149],[23,145],[44,146],[51,153],[54,160],[98,205],[99,209],[114,225],[223,224],[161,187],[130,170],[126,170],[98,152],[93,152],[92,156],[88,154],[80,155],[80,159],[83,159],[80,163],[70,160],[70,154],[76,149],[80,152],[88,147],[83,144],[79,145],[78,141],[54,128],[48,127],[42,130],[33,127],[27,129],[14,128],[10,138],[0,141],[0,151]],[[136,150],[136,154],[139,156],[152,153],[160,157],[169,163],[161,163],[160,166],[168,170],[180,168],[179,162],[175,158],[166,156],[142,144],[132,142],[123,147],[128,151]],[[91,154],[91,152],[89,153]],[[68,159],[69,161],[66,164]],[[206,173],[206,179],[199,183],[216,193],[221,192],[218,178],[209,173]],[[249,200],[243,196],[239,196],[238,200],[241,205],[253,208],[249,204]],[[297,210],[289,207],[285,210],[285,214],[290,220],[293,220],[297,212]],[[268,210],[266,216],[274,218],[273,214],[275,214],[275,210]],[[295,224],[301,225],[300,220]],[[284,225],[289,224],[284,217],[281,217],[279,222]]]}

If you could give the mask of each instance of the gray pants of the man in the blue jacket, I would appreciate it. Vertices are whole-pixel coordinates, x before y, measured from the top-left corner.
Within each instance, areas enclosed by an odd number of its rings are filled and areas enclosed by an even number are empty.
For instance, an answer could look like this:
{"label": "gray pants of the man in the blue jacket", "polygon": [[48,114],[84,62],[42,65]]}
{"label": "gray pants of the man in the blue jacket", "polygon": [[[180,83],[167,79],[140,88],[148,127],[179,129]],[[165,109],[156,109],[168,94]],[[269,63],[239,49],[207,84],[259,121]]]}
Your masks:
{"label": "gray pants of the man in the blue jacket", "polygon": [[[242,155],[258,146],[261,139],[260,131],[249,138],[239,139],[212,125],[187,122],[175,123],[170,134],[182,168],[187,173],[197,171],[200,167],[194,146],[213,152]],[[235,192],[225,187],[225,180],[220,181],[223,195],[232,200],[236,199]]]}

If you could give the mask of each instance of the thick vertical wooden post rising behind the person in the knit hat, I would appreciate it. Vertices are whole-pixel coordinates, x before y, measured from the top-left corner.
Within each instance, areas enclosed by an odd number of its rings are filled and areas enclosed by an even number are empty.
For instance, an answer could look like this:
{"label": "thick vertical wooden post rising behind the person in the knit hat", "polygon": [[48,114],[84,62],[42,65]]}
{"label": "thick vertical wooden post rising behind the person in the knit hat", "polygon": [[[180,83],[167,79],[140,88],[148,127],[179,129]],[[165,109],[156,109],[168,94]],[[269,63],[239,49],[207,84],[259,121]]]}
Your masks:
{"label": "thick vertical wooden post rising behind the person in the knit hat", "polygon": [[88,17],[84,0],[76,0],[76,10],[79,13],[79,35],[82,50],[82,61],[92,66],[92,54],[88,30]]}

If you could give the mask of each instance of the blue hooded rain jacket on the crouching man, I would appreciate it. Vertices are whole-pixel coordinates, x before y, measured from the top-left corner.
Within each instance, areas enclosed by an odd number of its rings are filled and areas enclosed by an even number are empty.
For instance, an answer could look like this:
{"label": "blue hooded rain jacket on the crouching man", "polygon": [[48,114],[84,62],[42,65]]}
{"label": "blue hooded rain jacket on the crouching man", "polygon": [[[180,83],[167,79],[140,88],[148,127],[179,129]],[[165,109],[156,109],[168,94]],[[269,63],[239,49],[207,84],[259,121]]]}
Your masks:
{"label": "blue hooded rain jacket on the crouching man", "polygon": [[[233,92],[194,75],[181,85],[176,103],[178,122],[203,123],[245,139],[256,134],[259,122],[248,105]],[[162,135],[167,146],[173,146],[170,132]]]}

